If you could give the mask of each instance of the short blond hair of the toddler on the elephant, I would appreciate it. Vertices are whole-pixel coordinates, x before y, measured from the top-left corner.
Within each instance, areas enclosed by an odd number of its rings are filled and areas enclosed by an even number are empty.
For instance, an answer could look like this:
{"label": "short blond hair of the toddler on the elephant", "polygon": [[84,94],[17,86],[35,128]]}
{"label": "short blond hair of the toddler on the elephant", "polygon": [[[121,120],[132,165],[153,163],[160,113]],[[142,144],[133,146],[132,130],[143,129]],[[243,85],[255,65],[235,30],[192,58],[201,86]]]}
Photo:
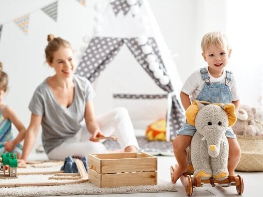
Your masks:
{"label": "short blond hair of the toddler on the elephant", "polygon": [[206,33],[201,41],[202,52],[207,50],[211,45],[215,45],[219,48],[226,47],[227,50],[230,50],[228,38],[221,31],[213,31]]}

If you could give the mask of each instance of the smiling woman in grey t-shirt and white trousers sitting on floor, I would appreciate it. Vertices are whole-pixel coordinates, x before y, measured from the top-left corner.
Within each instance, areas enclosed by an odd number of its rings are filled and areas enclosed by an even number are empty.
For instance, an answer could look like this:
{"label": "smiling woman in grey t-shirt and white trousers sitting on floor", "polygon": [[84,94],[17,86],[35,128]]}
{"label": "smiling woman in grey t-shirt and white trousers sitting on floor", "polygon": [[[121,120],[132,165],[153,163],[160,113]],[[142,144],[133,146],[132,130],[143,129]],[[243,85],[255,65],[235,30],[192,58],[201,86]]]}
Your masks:
{"label": "smiling woman in grey t-shirt and white trousers sitting on floor", "polygon": [[139,146],[127,110],[119,107],[95,118],[95,93],[88,79],[73,74],[71,45],[53,35],[48,35],[47,41],[46,61],[55,74],[36,88],[29,104],[32,115],[21,163],[31,151],[40,124],[43,146],[52,160],[107,152],[95,138],[111,135],[117,136],[124,152],[137,152]]}

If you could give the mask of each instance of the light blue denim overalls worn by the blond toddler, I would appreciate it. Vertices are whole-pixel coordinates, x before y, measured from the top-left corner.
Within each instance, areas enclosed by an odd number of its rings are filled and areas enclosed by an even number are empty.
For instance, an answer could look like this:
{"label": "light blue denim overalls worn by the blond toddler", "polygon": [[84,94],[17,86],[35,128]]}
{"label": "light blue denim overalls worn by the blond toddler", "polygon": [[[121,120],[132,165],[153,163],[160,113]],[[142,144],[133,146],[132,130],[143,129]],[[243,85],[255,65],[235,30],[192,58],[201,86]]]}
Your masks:
{"label": "light blue denim overalls worn by the blond toddler", "polygon": [[[208,76],[208,71],[206,68],[201,68],[200,72],[205,83],[196,100],[207,101],[209,103],[232,103],[232,93],[228,87],[228,83],[232,78],[232,72],[226,71],[224,83],[210,83],[210,77]],[[194,136],[195,132],[195,126],[192,126],[186,122],[179,129],[177,135]],[[227,129],[226,136],[236,139],[236,135],[234,134],[231,127]]]}

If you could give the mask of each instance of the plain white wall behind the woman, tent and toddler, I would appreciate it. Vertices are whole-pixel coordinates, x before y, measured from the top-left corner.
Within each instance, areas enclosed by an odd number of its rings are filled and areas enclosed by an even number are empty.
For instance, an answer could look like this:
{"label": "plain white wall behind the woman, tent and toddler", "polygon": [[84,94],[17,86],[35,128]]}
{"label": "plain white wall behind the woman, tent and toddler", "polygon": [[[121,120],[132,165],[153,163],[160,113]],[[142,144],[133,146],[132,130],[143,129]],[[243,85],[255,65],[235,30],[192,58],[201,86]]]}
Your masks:
{"label": "plain white wall behind the woman, tent and toddler", "polygon": [[[183,80],[206,65],[201,57],[202,35],[213,30],[227,31],[234,41],[228,69],[237,76],[242,101],[258,105],[258,97],[262,94],[259,88],[262,90],[260,76],[263,65],[263,42],[262,38],[258,38],[263,35],[260,21],[263,17],[259,3],[252,1],[148,0],[171,53],[177,54],[174,61]],[[10,90],[5,102],[26,126],[30,121],[28,104],[32,93],[46,76],[52,74],[52,70],[43,64],[46,35],[53,33],[70,41],[77,50],[77,57],[83,45],[83,36],[92,31],[90,24],[93,18],[88,16],[92,8],[82,7],[77,0],[59,0],[58,21],[55,22],[40,10],[52,2],[54,0],[0,0],[0,24],[3,24],[0,61],[10,77]],[[235,4],[240,2],[242,7],[237,9]],[[252,15],[249,16],[248,11],[252,11]],[[28,13],[31,13],[29,33],[25,35],[12,20]],[[249,21],[246,20],[248,16]],[[238,40],[235,36],[237,32]],[[243,47],[245,44],[246,47]],[[260,47],[254,50],[256,46]]]}

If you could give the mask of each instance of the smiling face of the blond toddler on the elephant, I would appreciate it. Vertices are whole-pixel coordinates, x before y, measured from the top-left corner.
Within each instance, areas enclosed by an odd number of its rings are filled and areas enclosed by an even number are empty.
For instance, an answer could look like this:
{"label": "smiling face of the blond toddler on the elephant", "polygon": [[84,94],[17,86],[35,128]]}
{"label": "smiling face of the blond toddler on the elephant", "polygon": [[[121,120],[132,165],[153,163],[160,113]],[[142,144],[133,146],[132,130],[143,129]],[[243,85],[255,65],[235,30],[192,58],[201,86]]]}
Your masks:
{"label": "smiling face of the blond toddler on the elephant", "polygon": [[216,72],[222,72],[228,63],[231,55],[231,49],[228,51],[226,47],[220,48],[216,45],[210,45],[203,53],[204,61],[207,61],[208,67]]}

